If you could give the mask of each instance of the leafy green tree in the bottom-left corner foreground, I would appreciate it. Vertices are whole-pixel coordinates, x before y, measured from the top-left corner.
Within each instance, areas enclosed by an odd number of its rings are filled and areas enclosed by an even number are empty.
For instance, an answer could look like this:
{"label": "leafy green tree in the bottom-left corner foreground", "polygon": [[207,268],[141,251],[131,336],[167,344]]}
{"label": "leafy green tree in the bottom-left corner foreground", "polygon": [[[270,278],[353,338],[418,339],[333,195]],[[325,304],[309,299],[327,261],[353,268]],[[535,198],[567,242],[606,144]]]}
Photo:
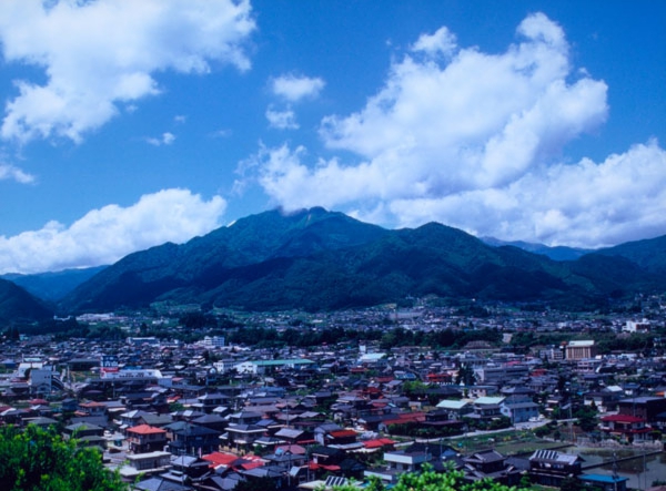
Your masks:
{"label": "leafy green tree in the bottom-left corner foreground", "polygon": [[0,428],[0,482],[8,491],[125,491],[92,448],[78,448],[54,430]]}

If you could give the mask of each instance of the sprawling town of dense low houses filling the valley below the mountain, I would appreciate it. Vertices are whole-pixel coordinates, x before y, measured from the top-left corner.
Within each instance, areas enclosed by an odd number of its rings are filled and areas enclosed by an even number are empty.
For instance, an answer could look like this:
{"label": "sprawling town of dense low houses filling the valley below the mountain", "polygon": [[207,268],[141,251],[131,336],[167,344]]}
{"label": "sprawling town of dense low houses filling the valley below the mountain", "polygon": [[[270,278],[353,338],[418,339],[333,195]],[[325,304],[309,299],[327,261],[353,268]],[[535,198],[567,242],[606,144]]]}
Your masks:
{"label": "sprawling town of dense low houses filling the valley below the mountain", "polygon": [[390,485],[424,464],[650,489],[666,484],[665,306],[88,314],[7,330],[0,421],[99,448],[144,491]]}

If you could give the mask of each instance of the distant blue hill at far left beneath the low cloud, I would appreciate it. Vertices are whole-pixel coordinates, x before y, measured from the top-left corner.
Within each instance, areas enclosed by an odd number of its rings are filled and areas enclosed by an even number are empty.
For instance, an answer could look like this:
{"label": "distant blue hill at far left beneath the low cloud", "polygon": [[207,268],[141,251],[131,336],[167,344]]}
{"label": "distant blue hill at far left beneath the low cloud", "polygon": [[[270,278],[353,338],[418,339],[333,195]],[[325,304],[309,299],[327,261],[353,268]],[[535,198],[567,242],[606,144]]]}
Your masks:
{"label": "distant blue hill at far left beneath the low cloud", "polygon": [[65,269],[57,273],[39,273],[34,275],[8,274],[1,275],[0,278],[16,283],[38,298],[58,301],[105,267]]}

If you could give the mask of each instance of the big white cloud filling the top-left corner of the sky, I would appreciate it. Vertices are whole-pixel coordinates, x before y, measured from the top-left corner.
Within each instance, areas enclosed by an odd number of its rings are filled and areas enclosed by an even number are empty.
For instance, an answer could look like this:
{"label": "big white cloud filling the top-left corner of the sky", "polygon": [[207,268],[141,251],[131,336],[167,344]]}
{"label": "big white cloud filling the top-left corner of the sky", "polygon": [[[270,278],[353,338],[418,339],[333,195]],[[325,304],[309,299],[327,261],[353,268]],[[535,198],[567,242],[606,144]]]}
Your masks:
{"label": "big white cloud filling the top-left corner of the sky", "polygon": [[0,2],[7,62],[44,70],[47,82],[18,80],[0,134],[24,143],[103,125],[160,92],[152,73],[206,73],[211,62],[250,68],[242,43],[254,30],[249,0],[8,0]]}

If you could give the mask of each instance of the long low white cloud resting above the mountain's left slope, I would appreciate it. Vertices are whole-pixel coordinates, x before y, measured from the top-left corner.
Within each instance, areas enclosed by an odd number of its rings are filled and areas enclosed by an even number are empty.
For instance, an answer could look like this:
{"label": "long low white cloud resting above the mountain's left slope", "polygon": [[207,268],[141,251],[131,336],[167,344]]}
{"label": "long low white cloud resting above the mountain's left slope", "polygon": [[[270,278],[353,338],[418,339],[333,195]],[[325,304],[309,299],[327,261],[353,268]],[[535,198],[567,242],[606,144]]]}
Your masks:
{"label": "long low white cloud resting above the mountain's left slope", "polygon": [[220,226],[221,196],[204,201],[188,190],[163,190],[129,206],[108,205],[65,227],[0,236],[0,273],[40,273],[111,264],[165,242],[183,243]]}

